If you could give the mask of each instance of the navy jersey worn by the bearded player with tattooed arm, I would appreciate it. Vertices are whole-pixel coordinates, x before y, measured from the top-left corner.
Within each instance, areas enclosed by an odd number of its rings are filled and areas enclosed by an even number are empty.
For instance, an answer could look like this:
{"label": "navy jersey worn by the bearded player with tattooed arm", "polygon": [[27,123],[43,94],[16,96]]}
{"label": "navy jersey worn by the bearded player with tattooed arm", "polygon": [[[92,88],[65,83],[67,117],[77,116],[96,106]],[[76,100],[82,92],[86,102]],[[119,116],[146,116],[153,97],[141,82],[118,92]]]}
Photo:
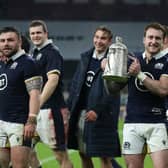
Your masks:
{"label": "navy jersey worn by the bearded player with tattooed arm", "polygon": [[0,62],[0,120],[26,123],[29,95],[25,80],[38,76],[35,62],[21,50],[7,63]]}

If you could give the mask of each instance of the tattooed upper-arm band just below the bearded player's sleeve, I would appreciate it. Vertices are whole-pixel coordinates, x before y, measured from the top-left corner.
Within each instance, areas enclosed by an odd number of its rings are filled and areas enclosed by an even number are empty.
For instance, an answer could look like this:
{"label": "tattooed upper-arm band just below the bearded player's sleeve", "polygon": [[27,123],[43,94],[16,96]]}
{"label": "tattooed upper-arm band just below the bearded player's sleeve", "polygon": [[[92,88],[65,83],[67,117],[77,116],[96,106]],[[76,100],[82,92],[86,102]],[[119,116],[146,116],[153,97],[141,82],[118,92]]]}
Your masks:
{"label": "tattooed upper-arm band just below the bearded player's sleeve", "polygon": [[41,90],[43,80],[41,76],[36,76],[25,81],[27,91],[30,92],[32,89]]}

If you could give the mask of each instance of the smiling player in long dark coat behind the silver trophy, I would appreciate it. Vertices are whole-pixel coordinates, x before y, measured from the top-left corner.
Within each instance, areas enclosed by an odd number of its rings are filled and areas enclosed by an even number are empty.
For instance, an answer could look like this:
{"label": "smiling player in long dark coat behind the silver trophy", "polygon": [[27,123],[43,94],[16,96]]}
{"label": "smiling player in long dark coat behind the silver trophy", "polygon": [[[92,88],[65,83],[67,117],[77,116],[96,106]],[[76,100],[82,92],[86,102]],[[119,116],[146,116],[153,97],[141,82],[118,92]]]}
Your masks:
{"label": "smiling player in long dark coat behind the silver trophy", "polygon": [[68,147],[79,150],[83,168],[94,167],[92,157],[100,158],[102,168],[112,168],[112,157],[121,154],[117,130],[120,95],[107,94],[101,68],[112,36],[108,27],[96,28],[93,46],[80,54],[71,82]]}

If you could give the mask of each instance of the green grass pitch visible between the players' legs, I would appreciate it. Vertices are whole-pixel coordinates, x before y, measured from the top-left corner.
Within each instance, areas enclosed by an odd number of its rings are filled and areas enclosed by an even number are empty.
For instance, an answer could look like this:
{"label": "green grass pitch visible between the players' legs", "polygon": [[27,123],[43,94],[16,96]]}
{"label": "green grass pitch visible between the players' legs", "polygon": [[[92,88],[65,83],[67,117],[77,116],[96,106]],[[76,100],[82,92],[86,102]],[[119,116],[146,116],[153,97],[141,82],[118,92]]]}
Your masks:
{"label": "green grass pitch visible between the players' legs", "polygon": [[[123,122],[119,122],[119,133],[120,139],[122,141],[122,128]],[[38,153],[38,157],[42,163],[43,168],[59,168],[57,161],[53,155],[53,152],[44,144],[38,143],[36,146],[36,150]],[[74,168],[81,168],[81,162],[77,151],[69,150],[70,159],[73,162]],[[120,163],[122,168],[126,168],[123,157],[116,158],[116,160]],[[93,158],[95,168],[100,168],[100,162],[98,158]],[[152,162],[149,156],[145,159],[145,168],[152,168]]]}

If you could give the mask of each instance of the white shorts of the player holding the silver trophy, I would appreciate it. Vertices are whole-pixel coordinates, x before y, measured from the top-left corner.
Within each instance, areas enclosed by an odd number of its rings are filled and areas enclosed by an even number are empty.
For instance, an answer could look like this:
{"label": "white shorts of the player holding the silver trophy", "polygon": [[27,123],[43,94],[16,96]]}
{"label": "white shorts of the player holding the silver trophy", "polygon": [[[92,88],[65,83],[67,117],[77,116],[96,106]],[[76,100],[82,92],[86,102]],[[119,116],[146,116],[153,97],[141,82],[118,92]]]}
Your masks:
{"label": "white shorts of the player holding the silver trophy", "polygon": [[123,128],[123,154],[149,153],[168,149],[168,135],[164,123],[126,123]]}

